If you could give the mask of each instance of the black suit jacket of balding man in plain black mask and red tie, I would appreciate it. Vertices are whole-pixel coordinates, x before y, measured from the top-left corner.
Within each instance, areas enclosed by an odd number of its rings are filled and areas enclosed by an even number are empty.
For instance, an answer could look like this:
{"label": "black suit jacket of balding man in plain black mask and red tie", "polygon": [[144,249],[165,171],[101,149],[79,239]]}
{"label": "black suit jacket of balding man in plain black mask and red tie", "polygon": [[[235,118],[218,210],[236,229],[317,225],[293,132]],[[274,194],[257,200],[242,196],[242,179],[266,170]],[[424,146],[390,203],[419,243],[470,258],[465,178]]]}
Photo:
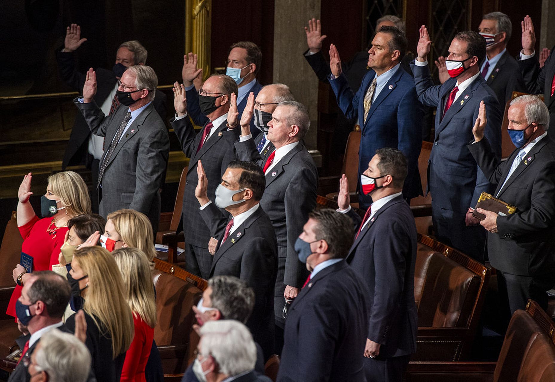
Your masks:
{"label": "black suit jacket of balding man in plain black mask and red tie", "polygon": [[[203,129],[199,133],[195,133],[193,124],[188,116],[175,120],[170,120],[171,126],[174,128],[181,144],[181,149],[189,160],[189,169],[187,171],[185,181],[185,191],[183,193],[183,233],[185,242],[194,246],[208,248],[210,240],[210,230],[203,218],[200,217],[199,202],[195,197],[195,187],[198,184],[198,167],[199,159],[203,163],[206,179],[208,179],[208,198],[215,200],[216,187],[221,182],[225,169],[228,168],[229,162],[235,160],[235,147],[233,142],[238,139],[240,129],[228,130],[224,121],[216,131],[204,142],[203,147],[196,152],[202,137]],[[225,216],[229,213],[221,210]]]}

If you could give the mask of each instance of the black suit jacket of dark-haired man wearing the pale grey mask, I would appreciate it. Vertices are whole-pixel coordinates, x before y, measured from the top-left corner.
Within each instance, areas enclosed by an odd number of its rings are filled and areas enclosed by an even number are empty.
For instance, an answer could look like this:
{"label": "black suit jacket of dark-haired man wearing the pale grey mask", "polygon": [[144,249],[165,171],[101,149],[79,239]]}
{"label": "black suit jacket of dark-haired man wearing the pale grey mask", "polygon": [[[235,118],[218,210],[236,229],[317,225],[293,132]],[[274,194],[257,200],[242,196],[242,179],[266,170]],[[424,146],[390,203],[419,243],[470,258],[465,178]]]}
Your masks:
{"label": "black suit jacket of dark-haired man wearing the pale grey mask", "polygon": [[246,325],[262,347],[264,359],[268,359],[274,350],[273,292],[278,269],[278,243],[270,218],[259,205],[253,215],[221,243],[229,219],[215,203],[206,206],[200,215],[210,227],[211,235],[220,243],[214,254],[210,277],[239,277],[253,288],[254,309]]}

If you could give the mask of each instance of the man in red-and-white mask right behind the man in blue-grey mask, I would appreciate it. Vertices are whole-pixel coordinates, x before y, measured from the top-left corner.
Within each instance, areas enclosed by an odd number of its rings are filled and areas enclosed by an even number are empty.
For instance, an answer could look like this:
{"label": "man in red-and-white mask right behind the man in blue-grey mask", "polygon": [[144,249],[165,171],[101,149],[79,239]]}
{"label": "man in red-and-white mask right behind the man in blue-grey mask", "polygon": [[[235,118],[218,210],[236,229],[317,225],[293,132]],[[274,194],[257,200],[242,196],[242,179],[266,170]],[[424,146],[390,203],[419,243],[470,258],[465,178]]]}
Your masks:
{"label": "man in red-and-white mask right behind the man in blue-grey mask", "polygon": [[365,295],[370,309],[364,350],[369,381],[401,381],[416,352],[417,243],[414,218],[401,193],[406,174],[403,153],[386,147],[376,151],[362,175],[362,191],[373,201],[364,219],[351,209],[345,175],[337,197],[337,211],[349,215],[358,230],[347,263],[370,291]]}

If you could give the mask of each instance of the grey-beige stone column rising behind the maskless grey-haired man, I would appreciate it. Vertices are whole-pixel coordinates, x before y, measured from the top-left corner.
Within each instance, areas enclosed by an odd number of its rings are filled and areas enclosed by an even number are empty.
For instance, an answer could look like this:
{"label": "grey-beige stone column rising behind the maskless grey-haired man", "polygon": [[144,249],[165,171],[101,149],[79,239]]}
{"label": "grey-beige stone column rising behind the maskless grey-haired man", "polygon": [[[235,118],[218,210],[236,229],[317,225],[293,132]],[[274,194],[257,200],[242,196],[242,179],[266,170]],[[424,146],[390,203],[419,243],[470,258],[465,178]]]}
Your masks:
{"label": "grey-beige stone column rising behind the maskless grey-haired man", "polygon": [[295,99],[309,109],[310,129],[304,141],[321,166],[316,150],[318,80],[302,57],[307,49],[304,27],[309,19],[320,18],[320,0],[275,0],[274,9],[274,83],[289,86]]}

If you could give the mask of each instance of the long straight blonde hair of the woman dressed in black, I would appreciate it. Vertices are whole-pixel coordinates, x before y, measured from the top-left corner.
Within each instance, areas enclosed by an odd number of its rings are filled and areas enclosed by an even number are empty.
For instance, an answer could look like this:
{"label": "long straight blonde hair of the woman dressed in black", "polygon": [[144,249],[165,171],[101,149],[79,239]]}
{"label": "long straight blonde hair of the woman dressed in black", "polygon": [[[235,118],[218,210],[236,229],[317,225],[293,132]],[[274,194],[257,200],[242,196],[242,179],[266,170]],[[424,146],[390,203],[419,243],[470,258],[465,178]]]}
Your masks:
{"label": "long straight blonde hair of the woman dressed in black", "polygon": [[122,293],[123,281],[112,253],[98,246],[77,249],[77,260],[89,278],[83,309],[92,317],[100,333],[112,339],[112,358],[129,349],[134,324],[131,309]]}

